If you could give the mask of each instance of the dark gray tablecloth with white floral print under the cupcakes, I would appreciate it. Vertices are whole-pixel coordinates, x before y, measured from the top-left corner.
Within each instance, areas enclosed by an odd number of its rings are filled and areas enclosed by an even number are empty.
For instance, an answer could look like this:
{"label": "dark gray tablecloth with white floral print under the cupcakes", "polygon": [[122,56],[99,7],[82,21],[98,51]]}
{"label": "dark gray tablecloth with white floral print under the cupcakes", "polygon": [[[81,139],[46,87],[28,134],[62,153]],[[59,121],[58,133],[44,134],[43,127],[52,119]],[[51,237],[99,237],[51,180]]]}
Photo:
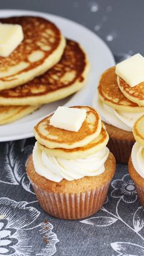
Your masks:
{"label": "dark gray tablecloth with white floral print under the cupcakes", "polygon": [[98,213],[63,221],[41,210],[26,176],[34,142],[0,144],[0,255],[144,255],[144,210],[128,167],[117,164]]}

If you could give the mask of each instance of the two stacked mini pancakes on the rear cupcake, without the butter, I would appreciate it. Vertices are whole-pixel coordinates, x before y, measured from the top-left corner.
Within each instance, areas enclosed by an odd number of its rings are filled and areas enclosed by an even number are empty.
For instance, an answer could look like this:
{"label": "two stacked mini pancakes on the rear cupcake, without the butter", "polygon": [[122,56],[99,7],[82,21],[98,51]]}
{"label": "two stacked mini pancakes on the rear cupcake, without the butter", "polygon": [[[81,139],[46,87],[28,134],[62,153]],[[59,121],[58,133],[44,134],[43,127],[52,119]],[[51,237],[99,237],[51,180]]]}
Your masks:
{"label": "two stacked mini pancakes on the rear cupcake, without the butter", "polygon": [[117,79],[115,67],[106,70],[99,79],[98,93],[101,101],[113,109],[132,113],[144,112],[143,83],[142,86],[130,87],[123,79]]}

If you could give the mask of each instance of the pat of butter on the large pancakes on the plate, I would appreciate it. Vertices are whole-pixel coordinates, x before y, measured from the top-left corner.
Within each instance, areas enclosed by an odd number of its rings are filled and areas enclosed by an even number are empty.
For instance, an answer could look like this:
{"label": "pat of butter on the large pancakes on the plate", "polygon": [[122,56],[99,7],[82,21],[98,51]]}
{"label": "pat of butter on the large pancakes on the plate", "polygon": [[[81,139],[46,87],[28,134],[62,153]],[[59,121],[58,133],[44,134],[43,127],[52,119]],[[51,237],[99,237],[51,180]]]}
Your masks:
{"label": "pat of butter on the large pancakes on the plate", "polygon": [[23,28],[20,25],[0,23],[0,56],[9,56],[23,38]]}

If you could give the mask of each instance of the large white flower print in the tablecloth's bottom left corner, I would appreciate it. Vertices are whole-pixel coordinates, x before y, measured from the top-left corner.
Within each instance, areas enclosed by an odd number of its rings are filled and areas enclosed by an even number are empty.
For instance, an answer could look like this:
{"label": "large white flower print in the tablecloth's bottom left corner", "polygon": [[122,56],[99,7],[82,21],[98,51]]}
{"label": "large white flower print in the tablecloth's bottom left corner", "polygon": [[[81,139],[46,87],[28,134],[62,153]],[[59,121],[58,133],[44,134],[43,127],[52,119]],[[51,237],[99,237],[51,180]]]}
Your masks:
{"label": "large white flower print in the tablecloth's bottom left corner", "polygon": [[[0,199],[0,255],[51,256],[56,252],[57,235],[48,221],[38,224],[40,211],[27,202]],[[34,234],[37,240],[34,240]]]}

